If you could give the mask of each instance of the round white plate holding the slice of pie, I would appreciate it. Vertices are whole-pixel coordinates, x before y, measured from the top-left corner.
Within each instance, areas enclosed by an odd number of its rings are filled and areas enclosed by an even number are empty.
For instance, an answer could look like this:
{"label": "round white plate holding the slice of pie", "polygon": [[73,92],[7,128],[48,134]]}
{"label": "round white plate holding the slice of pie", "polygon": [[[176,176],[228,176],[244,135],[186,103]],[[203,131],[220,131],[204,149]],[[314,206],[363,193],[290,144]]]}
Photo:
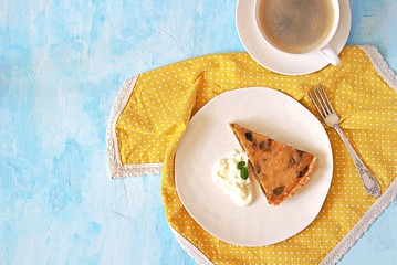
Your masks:
{"label": "round white plate holding the slice of pie", "polygon": [[[236,205],[211,177],[216,160],[241,150],[229,123],[315,153],[317,171],[279,206],[268,204],[258,184],[249,206]],[[324,203],[332,173],[330,140],[317,118],[290,96],[264,87],[227,92],[210,100],[191,118],[175,158],[176,187],[186,210],[210,234],[244,246],[274,244],[305,229]]]}

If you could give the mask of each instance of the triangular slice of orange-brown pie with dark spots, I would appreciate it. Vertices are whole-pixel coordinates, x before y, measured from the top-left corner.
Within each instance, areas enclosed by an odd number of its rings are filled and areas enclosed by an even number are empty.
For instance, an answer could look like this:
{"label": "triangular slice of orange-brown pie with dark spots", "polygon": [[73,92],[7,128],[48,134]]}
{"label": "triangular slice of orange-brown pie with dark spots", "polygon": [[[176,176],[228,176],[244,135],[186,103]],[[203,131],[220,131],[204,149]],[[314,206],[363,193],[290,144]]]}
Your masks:
{"label": "triangular slice of orange-brown pie with dark spots", "polygon": [[268,136],[230,124],[249,158],[249,176],[257,179],[268,202],[279,205],[302,189],[316,169],[316,157]]}

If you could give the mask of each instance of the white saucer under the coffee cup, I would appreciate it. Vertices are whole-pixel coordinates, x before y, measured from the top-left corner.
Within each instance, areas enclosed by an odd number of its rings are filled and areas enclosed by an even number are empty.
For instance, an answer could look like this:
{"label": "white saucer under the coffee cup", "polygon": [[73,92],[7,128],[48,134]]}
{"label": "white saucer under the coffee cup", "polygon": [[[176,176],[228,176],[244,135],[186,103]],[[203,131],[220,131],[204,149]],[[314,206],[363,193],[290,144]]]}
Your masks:
{"label": "white saucer under the coffee cup", "polygon": [[[341,53],[351,32],[352,14],[348,0],[339,0],[339,26],[330,42],[330,46]],[[240,40],[247,52],[263,67],[279,74],[303,75],[314,73],[330,63],[320,54],[295,55],[280,52],[267,43],[254,19],[255,0],[238,0],[236,10],[236,25]]]}

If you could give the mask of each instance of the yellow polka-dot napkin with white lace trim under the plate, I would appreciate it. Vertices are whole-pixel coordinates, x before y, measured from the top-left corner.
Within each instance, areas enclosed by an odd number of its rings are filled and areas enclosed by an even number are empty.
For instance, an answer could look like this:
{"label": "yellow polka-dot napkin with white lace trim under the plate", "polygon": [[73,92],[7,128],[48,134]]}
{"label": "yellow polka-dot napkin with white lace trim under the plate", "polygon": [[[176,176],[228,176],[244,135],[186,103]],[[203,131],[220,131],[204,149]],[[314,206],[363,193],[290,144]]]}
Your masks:
{"label": "yellow polka-dot napkin with white lace trim under the plate", "polygon": [[[275,74],[247,53],[213,54],[156,68],[127,81],[108,121],[112,178],[163,173],[167,221],[176,239],[201,264],[333,264],[359,239],[397,193],[397,77],[373,46],[346,46],[338,66],[302,76]],[[332,128],[334,174],[312,224],[270,246],[242,247],[207,233],[181,204],[174,157],[189,119],[215,96],[265,86],[281,91],[317,117],[306,93],[323,84],[341,127],[382,186],[368,197],[346,148]]]}

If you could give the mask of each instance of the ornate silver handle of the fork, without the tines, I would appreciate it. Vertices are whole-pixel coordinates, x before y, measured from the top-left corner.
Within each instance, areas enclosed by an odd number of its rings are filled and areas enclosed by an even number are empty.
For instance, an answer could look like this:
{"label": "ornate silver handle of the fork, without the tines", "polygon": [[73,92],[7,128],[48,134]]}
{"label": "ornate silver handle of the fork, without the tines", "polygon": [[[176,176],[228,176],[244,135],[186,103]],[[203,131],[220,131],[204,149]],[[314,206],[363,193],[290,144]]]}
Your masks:
{"label": "ornate silver handle of the fork, without the tines", "polygon": [[375,179],[375,177],[369,172],[367,167],[365,167],[362,159],[359,159],[356,151],[353,149],[351,142],[348,141],[345,134],[343,134],[341,127],[338,125],[333,126],[336,132],[341,136],[343,144],[345,144],[348,153],[351,155],[354,165],[356,166],[356,169],[358,171],[359,178],[362,179],[364,189],[367,191],[367,193],[374,198],[378,198],[380,195],[380,184]]}

